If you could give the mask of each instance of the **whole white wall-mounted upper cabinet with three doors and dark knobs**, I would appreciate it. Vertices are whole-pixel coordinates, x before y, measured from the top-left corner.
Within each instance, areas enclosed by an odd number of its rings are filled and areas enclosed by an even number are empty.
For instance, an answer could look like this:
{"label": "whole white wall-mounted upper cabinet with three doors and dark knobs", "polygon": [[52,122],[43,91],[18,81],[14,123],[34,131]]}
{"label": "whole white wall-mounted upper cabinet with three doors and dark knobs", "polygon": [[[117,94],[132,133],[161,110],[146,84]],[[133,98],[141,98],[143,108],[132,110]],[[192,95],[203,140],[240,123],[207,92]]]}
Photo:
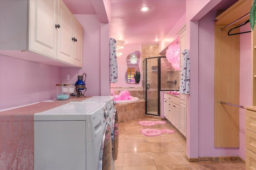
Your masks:
{"label": "whole white wall-mounted upper cabinet with three doors and dark knobs", "polygon": [[82,67],[83,29],[61,0],[3,1],[0,17],[2,55]]}

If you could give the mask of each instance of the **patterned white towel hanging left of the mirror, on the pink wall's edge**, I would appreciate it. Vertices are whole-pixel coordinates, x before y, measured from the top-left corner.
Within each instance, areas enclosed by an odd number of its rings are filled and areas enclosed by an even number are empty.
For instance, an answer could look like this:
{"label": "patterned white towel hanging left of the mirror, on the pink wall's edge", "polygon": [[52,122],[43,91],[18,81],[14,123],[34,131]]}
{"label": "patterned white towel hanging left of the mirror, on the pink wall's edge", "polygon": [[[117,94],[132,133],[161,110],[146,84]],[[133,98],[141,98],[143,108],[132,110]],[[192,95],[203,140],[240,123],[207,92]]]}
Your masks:
{"label": "patterned white towel hanging left of the mirror, on the pink wall's edge", "polygon": [[116,83],[117,82],[117,59],[116,59],[116,40],[114,38],[109,39],[109,69],[110,76],[109,82]]}

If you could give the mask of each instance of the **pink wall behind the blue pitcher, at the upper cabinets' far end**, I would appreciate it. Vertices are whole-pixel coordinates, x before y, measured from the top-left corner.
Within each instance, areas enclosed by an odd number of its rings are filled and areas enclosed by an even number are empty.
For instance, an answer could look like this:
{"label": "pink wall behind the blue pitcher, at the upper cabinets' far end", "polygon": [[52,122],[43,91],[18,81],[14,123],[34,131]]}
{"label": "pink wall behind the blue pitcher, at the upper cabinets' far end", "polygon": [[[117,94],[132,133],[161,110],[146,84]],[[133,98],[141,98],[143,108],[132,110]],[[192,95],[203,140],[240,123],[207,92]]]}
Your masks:
{"label": "pink wall behind the blue pitcher, at the upper cabinets' far end", "polygon": [[[70,75],[76,82],[77,72],[86,73],[85,96],[100,95],[100,22],[96,15],[75,15],[84,27],[83,31],[83,65],[82,68],[61,68],[61,81]],[[107,83],[107,82],[106,82]]]}

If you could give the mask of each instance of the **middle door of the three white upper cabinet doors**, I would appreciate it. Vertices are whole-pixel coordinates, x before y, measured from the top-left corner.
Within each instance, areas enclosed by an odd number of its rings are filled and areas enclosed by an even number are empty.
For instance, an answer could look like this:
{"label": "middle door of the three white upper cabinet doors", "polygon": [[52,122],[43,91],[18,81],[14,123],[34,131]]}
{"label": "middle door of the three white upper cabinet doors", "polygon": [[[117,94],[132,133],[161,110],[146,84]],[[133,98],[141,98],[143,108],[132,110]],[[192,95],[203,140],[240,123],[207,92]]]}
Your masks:
{"label": "middle door of the three white upper cabinet doors", "polygon": [[60,28],[57,28],[57,59],[73,64],[73,14],[61,0],[58,1],[58,24]]}

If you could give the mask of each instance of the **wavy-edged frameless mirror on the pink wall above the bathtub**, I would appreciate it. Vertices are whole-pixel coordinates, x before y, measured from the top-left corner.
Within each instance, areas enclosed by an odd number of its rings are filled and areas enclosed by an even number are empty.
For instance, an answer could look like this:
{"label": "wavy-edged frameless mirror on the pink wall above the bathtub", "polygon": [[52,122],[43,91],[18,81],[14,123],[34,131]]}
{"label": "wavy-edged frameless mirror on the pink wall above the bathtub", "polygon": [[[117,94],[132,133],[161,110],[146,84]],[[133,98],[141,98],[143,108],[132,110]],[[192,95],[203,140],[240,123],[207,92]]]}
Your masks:
{"label": "wavy-edged frameless mirror on the pink wall above the bathtub", "polygon": [[140,70],[138,62],[140,59],[140,51],[135,51],[132,54],[129,54],[126,58],[127,71],[125,74],[125,80],[127,83],[136,83],[140,82]]}

